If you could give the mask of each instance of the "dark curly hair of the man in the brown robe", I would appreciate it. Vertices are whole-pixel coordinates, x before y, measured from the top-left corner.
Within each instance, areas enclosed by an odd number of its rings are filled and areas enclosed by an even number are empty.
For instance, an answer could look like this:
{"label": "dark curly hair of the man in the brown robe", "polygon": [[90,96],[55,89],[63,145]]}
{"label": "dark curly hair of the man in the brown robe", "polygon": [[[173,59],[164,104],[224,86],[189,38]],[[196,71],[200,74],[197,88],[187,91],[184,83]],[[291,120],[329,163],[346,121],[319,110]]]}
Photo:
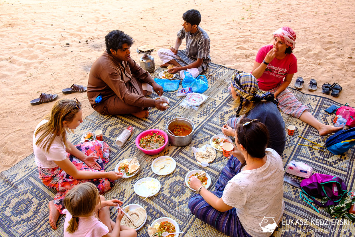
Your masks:
{"label": "dark curly hair of the man in the brown robe", "polygon": [[105,36],[106,51],[108,54],[111,54],[111,49],[117,51],[122,48],[123,44],[132,46],[133,43],[132,37],[118,29],[110,31],[107,36]]}

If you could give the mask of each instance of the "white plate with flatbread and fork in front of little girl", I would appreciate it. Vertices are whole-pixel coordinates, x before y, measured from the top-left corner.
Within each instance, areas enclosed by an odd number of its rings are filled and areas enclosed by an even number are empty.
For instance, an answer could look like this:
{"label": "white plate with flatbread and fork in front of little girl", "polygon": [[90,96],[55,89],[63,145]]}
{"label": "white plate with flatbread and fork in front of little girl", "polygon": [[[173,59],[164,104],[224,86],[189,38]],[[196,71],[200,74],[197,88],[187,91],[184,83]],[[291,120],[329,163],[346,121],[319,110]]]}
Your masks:
{"label": "white plate with flatbread and fork in front of little girl", "polygon": [[134,223],[132,223],[126,215],[123,216],[121,220],[121,225],[128,226],[130,228],[135,228],[139,230],[144,226],[147,221],[147,212],[143,206],[139,204],[129,204],[122,208],[132,219]]}

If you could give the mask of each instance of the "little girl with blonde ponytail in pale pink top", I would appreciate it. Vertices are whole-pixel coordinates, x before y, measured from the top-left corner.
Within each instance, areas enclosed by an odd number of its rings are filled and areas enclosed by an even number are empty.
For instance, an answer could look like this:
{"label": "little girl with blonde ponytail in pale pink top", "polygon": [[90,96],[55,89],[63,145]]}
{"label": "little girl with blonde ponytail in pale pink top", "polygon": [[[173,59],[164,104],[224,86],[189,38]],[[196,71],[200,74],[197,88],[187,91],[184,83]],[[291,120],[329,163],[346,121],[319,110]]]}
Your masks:
{"label": "little girl with blonde ponytail in pale pink top", "polygon": [[116,223],[110,218],[109,206],[122,205],[117,199],[105,200],[92,183],[81,183],[72,188],[64,198],[66,214],[65,237],[136,237],[133,228],[121,226],[124,213],[118,210]]}

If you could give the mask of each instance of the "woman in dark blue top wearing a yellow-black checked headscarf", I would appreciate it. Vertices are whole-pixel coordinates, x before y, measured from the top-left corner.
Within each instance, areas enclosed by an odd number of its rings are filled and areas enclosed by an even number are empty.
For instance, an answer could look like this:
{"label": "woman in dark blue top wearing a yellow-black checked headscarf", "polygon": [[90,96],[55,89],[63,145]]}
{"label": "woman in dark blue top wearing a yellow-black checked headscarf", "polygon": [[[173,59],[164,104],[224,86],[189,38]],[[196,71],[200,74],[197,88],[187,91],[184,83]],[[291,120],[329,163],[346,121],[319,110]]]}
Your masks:
{"label": "woman in dark blue top wearing a yellow-black checked headscarf", "polygon": [[[260,91],[256,78],[250,73],[237,71],[231,79],[232,97],[235,99],[235,118],[230,118],[223,125],[222,131],[226,136],[234,136],[234,129],[242,117],[260,119],[266,125],[270,134],[268,147],[279,155],[285,149],[285,123],[277,108],[277,100],[270,92]],[[244,163],[241,152],[234,147],[232,155]]]}

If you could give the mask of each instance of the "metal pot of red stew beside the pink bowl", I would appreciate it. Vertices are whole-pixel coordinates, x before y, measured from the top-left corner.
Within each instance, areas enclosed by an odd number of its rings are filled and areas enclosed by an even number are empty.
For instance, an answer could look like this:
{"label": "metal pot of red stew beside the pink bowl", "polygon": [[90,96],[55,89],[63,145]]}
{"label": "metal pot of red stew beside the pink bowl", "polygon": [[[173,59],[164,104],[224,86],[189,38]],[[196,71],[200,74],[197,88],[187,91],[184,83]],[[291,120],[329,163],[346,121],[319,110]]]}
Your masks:
{"label": "metal pot of red stew beside the pink bowl", "polygon": [[[175,136],[171,134],[168,129],[171,131],[176,125],[183,125],[189,127],[191,129],[191,133],[187,136]],[[193,131],[195,131],[195,124],[193,124],[190,119],[178,117],[170,119],[168,123],[166,123],[165,130],[166,134],[168,134],[169,141],[171,144],[173,144],[174,146],[187,146],[192,141],[192,134]]]}

